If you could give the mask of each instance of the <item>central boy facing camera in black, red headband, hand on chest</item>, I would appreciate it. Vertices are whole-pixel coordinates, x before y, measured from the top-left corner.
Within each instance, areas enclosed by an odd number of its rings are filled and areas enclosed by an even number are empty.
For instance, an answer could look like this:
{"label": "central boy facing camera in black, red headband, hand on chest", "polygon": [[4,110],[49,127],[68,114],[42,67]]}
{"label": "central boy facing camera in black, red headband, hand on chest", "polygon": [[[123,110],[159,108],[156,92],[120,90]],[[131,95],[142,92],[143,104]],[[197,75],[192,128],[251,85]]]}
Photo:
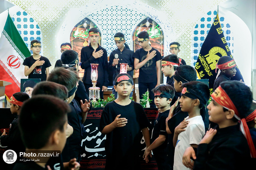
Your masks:
{"label": "central boy facing camera in black, red headband, hand on chest", "polygon": [[126,73],[118,74],[115,82],[118,98],[104,107],[99,128],[107,135],[105,169],[139,170],[140,131],[148,147],[150,123],[143,107],[129,98],[133,89],[132,77]]}

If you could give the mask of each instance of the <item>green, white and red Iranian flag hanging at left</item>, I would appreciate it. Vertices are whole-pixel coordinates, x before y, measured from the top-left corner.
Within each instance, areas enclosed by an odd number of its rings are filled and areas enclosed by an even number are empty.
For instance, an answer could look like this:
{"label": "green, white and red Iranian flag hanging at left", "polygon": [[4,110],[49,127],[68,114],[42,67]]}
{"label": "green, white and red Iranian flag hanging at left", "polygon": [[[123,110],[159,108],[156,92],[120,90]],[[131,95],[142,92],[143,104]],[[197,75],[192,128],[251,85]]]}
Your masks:
{"label": "green, white and red Iranian flag hanging at left", "polygon": [[0,38],[0,80],[12,83],[5,87],[8,101],[14,93],[20,91],[20,81],[26,78],[22,63],[29,56],[30,51],[8,13]]}

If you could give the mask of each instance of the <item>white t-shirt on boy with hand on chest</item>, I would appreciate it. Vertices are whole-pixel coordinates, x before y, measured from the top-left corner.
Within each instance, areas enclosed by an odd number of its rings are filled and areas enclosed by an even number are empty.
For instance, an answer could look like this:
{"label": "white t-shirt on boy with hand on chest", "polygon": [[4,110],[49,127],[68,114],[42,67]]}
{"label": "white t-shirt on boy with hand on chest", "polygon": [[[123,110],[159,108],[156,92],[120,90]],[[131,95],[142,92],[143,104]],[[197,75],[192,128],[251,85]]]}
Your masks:
{"label": "white t-shirt on boy with hand on chest", "polygon": [[178,140],[174,152],[174,170],[187,170],[182,164],[182,156],[185,150],[192,144],[199,144],[205,134],[204,122],[202,116],[196,116],[188,119],[189,123],[186,130],[178,135]]}

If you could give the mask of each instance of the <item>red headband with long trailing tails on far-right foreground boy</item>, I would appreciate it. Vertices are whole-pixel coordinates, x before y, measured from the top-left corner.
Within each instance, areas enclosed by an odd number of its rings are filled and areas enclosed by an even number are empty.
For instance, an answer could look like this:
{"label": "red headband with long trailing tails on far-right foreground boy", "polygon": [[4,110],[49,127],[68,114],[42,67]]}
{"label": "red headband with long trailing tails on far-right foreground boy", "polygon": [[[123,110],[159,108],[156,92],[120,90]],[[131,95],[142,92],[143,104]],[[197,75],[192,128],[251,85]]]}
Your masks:
{"label": "red headband with long trailing tails on far-right foreground boy", "polygon": [[218,104],[220,104],[224,108],[234,110],[235,118],[237,118],[238,120],[241,120],[240,130],[244,134],[244,136],[246,137],[246,140],[247,140],[249,148],[250,148],[251,157],[256,158],[256,150],[255,150],[255,147],[254,147],[254,143],[252,142],[251,134],[250,134],[249,128],[246,124],[245,118],[240,119],[239,112],[236,109],[234,103],[229,98],[228,94],[226,94],[226,92],[222,89],[222,87],[219,86],[217,89],[215,89],[215,91],[213,92],[213,94],[211,96],[212,96],[212,99],[215,102],[217,102]]}

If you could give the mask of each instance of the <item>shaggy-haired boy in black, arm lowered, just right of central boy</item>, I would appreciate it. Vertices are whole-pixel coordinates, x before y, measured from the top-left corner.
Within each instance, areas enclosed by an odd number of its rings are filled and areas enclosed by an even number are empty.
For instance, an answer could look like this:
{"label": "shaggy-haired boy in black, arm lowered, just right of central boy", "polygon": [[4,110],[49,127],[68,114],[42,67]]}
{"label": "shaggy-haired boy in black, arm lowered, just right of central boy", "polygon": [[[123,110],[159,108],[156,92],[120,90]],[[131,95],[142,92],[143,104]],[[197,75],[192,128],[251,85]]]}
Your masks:
{"label": "shaggy-haired boy in black, arm lowered, just right of central boy", "polygon": [[145,161],[148,163],[148,154],[153,151],[156,163],[159,170],[167,170],[169,166],[168,160],[166,159],[167,154],[167,132],[165,121],[170,112],[170,103],[174,97],[175,89],[170,85],[159,85],[154,88],[153,93],[155,94],[156,107],[160,109],[160,113],[155,122],[154,129],[152,132],[152,143],[145,151]]}

